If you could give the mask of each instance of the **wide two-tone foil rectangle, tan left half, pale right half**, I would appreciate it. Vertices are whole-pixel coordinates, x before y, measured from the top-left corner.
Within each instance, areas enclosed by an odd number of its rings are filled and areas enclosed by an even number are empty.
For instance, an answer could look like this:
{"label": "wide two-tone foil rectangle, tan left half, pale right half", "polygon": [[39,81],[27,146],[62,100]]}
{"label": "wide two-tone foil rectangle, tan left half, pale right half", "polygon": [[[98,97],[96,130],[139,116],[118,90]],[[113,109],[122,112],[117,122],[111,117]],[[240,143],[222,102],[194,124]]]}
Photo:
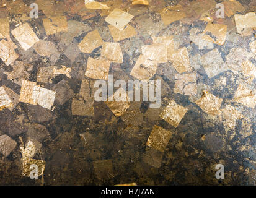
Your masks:
{"label": "wide two-tone foil rectangle, tan left half, pale right half", "polygon": [[32,105],[40,105],[43,108],[51,109],[55,100],[56,92],[42,88],[36,82],[22,80],[19,101]]}

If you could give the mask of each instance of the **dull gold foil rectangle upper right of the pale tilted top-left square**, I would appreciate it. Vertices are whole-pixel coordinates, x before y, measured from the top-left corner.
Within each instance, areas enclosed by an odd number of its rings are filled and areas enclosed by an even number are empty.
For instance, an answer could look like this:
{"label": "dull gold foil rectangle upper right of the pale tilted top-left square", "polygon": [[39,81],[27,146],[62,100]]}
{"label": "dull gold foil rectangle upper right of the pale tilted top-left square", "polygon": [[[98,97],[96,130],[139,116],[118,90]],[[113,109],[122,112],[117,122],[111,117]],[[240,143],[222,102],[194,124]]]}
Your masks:
{"label": "dull gold foil rectangle upper right of the pale tilted top-left square", "polygon": [[58,32],[68,31],[68,22],[65,16],[43,19],[46,35],[53,35]]}

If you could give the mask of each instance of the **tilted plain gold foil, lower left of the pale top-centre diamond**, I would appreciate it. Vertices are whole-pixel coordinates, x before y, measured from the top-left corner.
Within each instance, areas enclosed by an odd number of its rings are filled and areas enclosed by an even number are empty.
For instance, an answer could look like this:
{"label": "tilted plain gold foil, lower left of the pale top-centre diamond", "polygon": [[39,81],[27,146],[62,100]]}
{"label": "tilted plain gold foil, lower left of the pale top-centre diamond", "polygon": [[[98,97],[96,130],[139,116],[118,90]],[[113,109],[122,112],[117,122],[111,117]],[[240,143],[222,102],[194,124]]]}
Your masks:
{"label": "tilted plain gold foil, lower left of the pale top-centre diamond", "polygon": [[98,48],[103,44],[103,40],[100,37],[100,33],[97,29],[87,33],[86,37],[79,43],[78,48],[83,53],[90,54],[94,49]]}

